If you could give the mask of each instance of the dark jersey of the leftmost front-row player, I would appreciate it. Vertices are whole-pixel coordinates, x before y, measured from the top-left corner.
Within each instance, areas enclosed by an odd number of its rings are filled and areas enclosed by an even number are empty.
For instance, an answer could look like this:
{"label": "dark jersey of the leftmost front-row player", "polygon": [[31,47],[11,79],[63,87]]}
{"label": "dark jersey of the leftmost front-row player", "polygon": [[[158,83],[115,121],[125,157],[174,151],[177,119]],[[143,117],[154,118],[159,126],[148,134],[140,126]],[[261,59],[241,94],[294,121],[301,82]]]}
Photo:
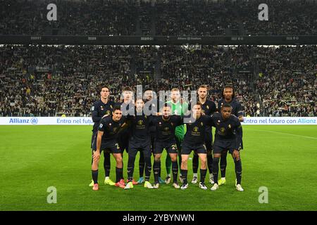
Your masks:
{"label": "dark jersey of the leftmost front-row player", "polygon": [[121,117],[121,120],[118,122],[113,121],[111,116],[102,118],[98,127],[98,131],[104,132],[101,141],[116,141],[118,137],[118,131],[125,123],[125,120],[125,117]]}

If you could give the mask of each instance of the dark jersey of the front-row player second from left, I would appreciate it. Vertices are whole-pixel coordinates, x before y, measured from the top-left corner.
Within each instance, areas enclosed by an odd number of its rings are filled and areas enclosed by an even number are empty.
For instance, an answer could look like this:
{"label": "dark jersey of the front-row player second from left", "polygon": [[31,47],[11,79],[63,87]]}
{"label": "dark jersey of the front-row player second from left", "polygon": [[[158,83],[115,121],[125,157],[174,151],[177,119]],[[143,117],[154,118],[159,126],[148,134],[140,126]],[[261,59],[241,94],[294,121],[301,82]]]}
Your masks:
{"label": "dark jersey of the front-row player second from left", "polygon": [[130,124],[130,141],[145,142],[149,141],[149,127],[153,120],[152,115],[128,115],[127,121]]}

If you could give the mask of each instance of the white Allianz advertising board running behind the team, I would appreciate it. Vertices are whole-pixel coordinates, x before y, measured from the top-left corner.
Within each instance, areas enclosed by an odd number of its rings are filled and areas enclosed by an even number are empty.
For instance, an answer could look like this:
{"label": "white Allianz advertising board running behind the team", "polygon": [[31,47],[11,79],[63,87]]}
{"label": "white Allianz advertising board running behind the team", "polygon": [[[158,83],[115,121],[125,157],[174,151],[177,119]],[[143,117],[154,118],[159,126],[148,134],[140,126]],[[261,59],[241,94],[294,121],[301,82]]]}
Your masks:
{"label": "white Allianz advertising board running behind the team", "polygon": [[[93,125],[91,117],[0,117],[0,125]],[[317,125],[317,117],[244,117],[242,125]]]}

